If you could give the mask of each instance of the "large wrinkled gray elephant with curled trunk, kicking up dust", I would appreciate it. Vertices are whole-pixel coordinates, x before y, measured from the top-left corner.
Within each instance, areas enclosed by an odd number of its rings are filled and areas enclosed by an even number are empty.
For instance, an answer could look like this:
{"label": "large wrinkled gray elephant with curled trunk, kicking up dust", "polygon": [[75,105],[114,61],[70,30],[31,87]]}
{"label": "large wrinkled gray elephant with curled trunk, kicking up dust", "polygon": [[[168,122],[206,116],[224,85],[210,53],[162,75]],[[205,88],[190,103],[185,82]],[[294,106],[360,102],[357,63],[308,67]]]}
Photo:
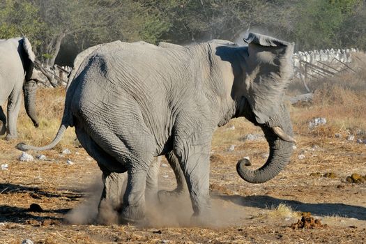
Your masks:
{"label": "large wrinkled gray elephant with curled trunk, kicking up dust", "polygon": [[292,153],[283,97],[292,76],[293,44],[256,33],[246,41],[247,47],[220,42],[102,45],[77,70],[54,141],[17,148],[52,148],[68,126],[75,126],[79,142],[103,172],[105,195],[113,195],[108,193],[113,190],[111,174],[127,171],[120,216],[127,222],[144,219],[146,185],[158,178],[153,158],[166,155],[181,183],[178,188],[184,185],[179,177],[185,178],[194,217],[204,220],[210,210],[209,152],[215,128],[245,116],[264,131],[270,148],[264,166],[252,171],[237,165],[238,174],[251,183],[276,176]]}

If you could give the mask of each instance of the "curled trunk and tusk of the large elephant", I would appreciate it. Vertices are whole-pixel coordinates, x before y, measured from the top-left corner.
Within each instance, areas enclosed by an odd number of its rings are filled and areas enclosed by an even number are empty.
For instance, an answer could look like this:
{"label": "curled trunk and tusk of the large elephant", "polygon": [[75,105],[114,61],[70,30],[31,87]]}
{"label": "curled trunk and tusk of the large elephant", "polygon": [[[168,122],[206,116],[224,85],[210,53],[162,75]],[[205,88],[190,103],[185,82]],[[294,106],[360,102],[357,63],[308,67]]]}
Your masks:
{"label": "curled trunk and tusk of the large elephant", "polygon": [[241,178],[250,183],[264,183],[277,176],[289,162],[293,151],[293,142],[295,142],[292,138],[293,132],[289,114],[283,106],[280,116],[275,116],[275,119],[266,125],[261,125],[261,128],[270,150],[266,163],[255,170],[246,169],[247,166],[243,161],[239,161],[236,165],[236,170]]}

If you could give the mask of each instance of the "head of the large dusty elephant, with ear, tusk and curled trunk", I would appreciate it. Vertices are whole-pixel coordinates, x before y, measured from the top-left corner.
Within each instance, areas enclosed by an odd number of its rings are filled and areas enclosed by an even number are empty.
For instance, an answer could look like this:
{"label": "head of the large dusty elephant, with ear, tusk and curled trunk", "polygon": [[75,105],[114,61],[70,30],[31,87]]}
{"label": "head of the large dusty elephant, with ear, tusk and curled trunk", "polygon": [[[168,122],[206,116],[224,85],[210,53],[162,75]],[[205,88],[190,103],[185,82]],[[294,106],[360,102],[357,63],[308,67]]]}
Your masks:
{"label": "head of the large dusty elephant, with ear, tusk and curled trunk", "polygon": [[241,62],[242,115],[259,125],[270,148],[267,162],[254,171],[238,162],[238,174],[250,183],[263,183],[276,176],[292,154],[292,125],[284,106],[284,91],[293,75],[293,43],[250,33]]}

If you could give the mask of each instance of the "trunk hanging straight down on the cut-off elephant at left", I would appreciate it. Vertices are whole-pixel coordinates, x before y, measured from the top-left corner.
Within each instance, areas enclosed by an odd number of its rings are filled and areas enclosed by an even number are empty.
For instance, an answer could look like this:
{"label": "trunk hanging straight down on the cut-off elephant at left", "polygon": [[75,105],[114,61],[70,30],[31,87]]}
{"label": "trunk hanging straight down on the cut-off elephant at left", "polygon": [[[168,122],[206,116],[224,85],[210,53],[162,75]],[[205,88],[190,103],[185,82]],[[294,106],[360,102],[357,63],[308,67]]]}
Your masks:
{"label": "trunk hanging straight down on the cut-off elephant at left", "polygon": [[28,80],[23,85],[24,106],[26,114],[31,118],[35,127],[39,126],[38,116],[36,112],[36,93],[38,86],[33,80]]}

